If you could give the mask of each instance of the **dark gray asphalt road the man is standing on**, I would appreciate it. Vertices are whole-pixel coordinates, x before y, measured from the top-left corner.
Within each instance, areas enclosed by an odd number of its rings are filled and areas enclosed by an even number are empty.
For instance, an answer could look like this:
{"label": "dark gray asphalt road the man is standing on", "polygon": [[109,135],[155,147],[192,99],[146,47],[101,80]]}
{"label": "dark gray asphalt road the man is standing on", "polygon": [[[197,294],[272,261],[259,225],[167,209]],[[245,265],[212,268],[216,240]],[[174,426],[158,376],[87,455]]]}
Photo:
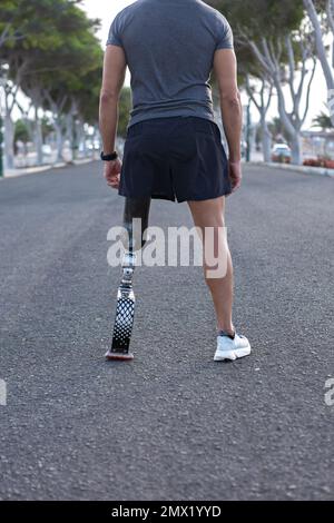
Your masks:
{"label": "dark gray asphalt road the man is standing on", "polygon": [[[122,198],[99,164],[0,181],[0,499],[333,499],[334,180],[248,167],[227,208],[235,324],[213,362],[202,269],[138,268],[131,363],[106,363]],[[150,225],[190,225],[156,201]]]}

